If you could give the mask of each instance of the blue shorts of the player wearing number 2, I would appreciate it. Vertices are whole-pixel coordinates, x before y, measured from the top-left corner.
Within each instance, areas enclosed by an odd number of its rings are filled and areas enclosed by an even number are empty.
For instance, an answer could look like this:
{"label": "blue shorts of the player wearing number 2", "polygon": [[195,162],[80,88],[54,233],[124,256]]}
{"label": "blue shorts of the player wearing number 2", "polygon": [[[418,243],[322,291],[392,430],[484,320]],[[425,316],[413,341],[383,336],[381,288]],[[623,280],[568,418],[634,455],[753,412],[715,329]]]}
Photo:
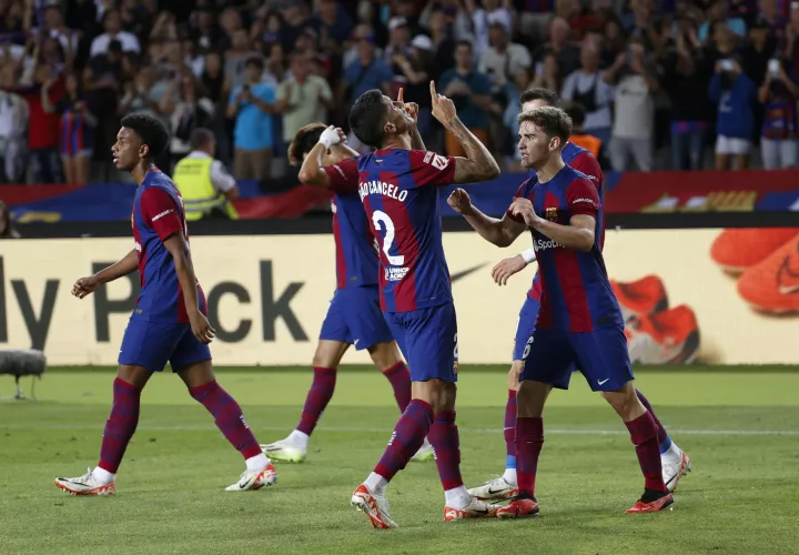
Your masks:
{"label": "blue shorts of the player wearing number 2", "polygon": [[385,319],[411,367],[412,382],[457,382],[457,321],[452,301],[411,312],[386,312]]}

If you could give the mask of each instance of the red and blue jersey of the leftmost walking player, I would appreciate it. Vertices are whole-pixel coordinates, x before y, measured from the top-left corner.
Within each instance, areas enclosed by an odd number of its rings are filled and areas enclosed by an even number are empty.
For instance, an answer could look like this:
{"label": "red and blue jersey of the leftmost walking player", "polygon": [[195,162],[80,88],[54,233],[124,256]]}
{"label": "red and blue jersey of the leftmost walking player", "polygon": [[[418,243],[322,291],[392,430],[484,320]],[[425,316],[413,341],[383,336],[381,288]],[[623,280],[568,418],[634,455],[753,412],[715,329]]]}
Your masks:
{"label": "red and blue jersey of the leftmost walking player", "polygon": [[[148,172],[136,188],[131,214],[133,240],[139,255],[141,292],[131,317],[149,322],[188,323],[183,291],[172,254],[163,241],[181,231],[189,241],[183,199],[172,180],[160,170]],[[198,282],[200,311],[208,306]]]}

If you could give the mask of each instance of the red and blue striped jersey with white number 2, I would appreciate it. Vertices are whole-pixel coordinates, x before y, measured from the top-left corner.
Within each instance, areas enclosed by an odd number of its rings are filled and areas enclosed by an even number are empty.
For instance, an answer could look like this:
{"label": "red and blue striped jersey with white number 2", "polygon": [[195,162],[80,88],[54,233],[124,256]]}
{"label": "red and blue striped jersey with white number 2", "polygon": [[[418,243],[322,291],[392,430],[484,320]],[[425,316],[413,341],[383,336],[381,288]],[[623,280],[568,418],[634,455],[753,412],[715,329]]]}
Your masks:
{"label": "red and blue striped jersey with white number 2", "polygon": [[419,150],[361,158],[358,193],[380,245],[381,307],[409,312],[452,301],[437,186],[452,184],[455,159]]}

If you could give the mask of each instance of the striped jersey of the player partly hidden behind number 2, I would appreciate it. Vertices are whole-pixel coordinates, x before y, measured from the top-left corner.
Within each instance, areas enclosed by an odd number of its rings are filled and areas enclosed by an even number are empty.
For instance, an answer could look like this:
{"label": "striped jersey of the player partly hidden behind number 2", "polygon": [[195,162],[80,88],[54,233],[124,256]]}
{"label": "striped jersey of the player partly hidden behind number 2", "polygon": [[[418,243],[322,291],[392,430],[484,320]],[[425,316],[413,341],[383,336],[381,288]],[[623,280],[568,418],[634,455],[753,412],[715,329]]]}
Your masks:
{"label": "striped jersey of the player partly hidden behind number 2", "polygon": [[350,158],[323,168],[333,191],[336,289],[377,284],[377,243],[358,196],[358,163]]}

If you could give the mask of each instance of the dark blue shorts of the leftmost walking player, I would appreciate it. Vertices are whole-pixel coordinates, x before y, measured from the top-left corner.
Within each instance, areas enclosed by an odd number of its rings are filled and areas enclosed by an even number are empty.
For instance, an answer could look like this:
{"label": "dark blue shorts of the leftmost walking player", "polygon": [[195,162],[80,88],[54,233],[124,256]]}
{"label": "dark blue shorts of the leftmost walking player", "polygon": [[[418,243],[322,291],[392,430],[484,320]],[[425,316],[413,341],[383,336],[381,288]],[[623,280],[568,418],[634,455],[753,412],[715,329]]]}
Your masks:
{"label": "dark blue shorts of the leftmost walking player", "polygon": [[119,355],[120,364],[143,366],[151,372],[161,372],[168,361],[172,372],[178,372],[210,360],[211,350],[194,336],[191,325],[133,319],[128,322]]}

